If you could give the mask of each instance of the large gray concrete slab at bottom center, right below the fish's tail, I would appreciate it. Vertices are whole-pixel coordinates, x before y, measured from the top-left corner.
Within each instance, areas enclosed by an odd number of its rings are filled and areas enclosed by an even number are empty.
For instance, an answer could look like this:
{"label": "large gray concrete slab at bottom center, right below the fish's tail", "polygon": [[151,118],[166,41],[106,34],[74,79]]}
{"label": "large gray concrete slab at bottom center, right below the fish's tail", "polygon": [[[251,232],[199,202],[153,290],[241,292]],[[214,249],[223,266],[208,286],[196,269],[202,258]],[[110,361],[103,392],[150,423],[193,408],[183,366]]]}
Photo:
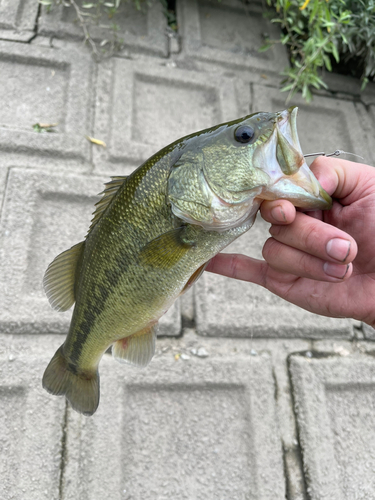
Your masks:
{"label": "large gray concrete slab at bottom center, right below the fish's tail", "polygon": [[62,498],[284,499],[268,357],[101,362],[101,402],[68,416]]}

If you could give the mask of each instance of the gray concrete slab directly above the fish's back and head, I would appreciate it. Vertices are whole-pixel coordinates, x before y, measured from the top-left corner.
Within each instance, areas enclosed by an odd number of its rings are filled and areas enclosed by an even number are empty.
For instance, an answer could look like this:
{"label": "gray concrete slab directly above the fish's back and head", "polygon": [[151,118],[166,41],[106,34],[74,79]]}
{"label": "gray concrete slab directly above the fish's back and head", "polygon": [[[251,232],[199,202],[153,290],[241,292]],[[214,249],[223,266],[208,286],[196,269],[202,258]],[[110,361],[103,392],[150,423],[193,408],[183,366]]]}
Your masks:
{"label": "gray concrete slab directly above the fish's back and head", "polygon": [[129,173],[189,133],[238,118],[236,85],[153,61],[112,58],[99,66],[97,172]]}

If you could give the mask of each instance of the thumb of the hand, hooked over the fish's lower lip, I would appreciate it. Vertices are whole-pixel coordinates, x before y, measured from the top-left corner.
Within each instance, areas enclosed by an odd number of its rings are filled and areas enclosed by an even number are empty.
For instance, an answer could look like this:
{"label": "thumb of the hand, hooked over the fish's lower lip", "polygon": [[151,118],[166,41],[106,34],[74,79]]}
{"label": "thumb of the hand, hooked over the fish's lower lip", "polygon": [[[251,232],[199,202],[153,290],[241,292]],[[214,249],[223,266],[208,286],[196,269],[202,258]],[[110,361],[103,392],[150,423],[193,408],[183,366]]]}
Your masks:
{"label": "thumb of the hand, hooked over the fish's lower lip", "polygon": [[342,205],[375,193],[375,168],[369,165],[320,156],[310,168],[323,189]]}

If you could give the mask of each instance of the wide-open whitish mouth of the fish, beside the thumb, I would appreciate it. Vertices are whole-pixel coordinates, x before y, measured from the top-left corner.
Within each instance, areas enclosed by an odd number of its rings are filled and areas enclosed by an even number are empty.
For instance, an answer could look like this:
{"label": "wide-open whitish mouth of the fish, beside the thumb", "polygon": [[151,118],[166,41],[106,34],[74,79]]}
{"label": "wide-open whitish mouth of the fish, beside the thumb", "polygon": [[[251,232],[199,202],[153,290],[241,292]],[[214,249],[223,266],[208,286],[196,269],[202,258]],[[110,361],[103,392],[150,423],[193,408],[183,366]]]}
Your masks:
{"label": "wide-open whitish mouth of the fish, beside the thumb", "polygon": [[276,114],[270,139],[254,157],[271,178],[259,198],[286,199],[306,210],[329,210],[332,199],[308,167],[297,133],[297,107]]}

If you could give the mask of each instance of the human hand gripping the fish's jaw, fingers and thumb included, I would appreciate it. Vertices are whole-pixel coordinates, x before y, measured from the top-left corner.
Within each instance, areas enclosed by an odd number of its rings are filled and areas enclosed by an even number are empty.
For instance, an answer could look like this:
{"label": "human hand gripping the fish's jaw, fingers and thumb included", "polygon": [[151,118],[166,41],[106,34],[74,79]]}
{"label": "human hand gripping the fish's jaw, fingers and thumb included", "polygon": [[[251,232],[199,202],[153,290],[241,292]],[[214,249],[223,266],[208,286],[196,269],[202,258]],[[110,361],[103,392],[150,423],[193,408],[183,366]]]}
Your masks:
{"label": "human hand gripping the fish's jaw, fingers and thumb included", "polygon": [[272,224],[265,261],[219,254],[206,270],[375,327],[375,168],[319,157],[311,170],[334,198],[331,210],[302,213],[286,200],[265,201],[261,214]]}

